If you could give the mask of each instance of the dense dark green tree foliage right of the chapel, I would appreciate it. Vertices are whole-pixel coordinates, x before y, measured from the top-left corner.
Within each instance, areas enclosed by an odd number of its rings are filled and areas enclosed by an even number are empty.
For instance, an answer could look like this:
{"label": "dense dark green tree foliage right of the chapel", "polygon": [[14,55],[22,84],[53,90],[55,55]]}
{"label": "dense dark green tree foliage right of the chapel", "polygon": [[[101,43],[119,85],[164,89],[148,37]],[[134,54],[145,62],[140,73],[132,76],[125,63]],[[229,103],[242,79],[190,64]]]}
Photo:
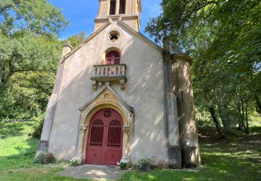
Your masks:
{"label": "dense dark green tree foliage right of the chapel", "polygon": [[227,135],[236,126],[248,132],[247,114],[261,107],[260,1],[163,0],[161,6],[146,31],[157,42],[168,36],[175,53],[193,58],[196,106],[216,110]]}

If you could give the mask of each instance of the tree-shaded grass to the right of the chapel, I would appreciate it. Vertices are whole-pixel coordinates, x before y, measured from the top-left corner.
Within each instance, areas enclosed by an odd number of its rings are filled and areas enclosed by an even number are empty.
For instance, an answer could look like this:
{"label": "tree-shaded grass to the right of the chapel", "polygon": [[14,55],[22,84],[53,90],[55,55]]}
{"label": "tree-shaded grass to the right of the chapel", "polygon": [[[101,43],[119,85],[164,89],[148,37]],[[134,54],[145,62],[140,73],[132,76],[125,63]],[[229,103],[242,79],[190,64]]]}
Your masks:
{"label": "tree-shaded grass to the right of the chapel", "polygon": [[203,165],[196,169],[126,173],[121,180],[261,180],[261,135],[237,133],[230,143],[200,130]]}

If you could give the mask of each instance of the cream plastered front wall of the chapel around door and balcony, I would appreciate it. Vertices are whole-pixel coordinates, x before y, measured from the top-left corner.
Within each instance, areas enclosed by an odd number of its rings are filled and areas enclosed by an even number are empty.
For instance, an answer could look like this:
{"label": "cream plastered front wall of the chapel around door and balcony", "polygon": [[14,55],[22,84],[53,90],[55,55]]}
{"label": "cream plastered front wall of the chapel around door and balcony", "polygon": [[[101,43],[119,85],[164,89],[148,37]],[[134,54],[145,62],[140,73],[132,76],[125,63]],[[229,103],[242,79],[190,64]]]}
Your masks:
{"label": "cream plastered front wall of the chapel around door and balcony", "polygon": [[[107,39],[110,31],[119,31],[116,42]],[[50,151],[58,159],[71,159],[76,154],[79,132],[79,107],[99,91],[94,91],[90,77],[93,65],[104,63],[104,52],[110,47],[122,51],[127,65],[127,87],[111,87],[133,106],[134,124],[131,132],[130,162],[148,157],[152,164],[167,162],[167,139],[164,97],[164,72],[161,52],[119,22],[112,22],[95,38],[65,60],[61,87],[49,140]],[[104,85],[102,85],[104,86]]]}

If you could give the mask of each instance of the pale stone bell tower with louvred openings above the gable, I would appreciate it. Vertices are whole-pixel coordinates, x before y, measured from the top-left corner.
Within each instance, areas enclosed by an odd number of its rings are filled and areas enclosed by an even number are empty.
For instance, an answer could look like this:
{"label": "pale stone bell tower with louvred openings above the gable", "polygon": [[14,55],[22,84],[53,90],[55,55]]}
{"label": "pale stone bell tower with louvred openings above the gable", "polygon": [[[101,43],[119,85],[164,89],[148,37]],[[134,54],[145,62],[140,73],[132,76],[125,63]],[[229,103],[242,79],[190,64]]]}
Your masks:
{"label": "pale stone bell tower with louvred openings above the gable", "polygon": [[128,26],[140,31],[141,0],[99,0],[99,13],[95,19],[95,30],[100,29],[110,18],[121,19]]}

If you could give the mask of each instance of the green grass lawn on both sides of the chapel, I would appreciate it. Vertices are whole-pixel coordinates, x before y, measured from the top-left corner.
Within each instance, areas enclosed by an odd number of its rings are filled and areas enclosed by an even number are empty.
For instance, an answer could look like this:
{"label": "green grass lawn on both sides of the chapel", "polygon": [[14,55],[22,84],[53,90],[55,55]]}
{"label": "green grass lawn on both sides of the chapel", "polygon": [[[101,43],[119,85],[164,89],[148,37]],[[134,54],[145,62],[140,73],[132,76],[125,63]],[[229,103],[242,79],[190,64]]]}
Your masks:
{"label": "green grass lawn on both sides of the chapel", "polygon": [[[63,166],[33,163],[38,145],[33,123],[0,123],[0,180],[76,180],[56,176]],[[258,129],[260,131],[260,129]],[[237,132],[230,143],[200,129],[203,165],[196,169],[126,173],[121,180],[261,180],[261,134]]]}

